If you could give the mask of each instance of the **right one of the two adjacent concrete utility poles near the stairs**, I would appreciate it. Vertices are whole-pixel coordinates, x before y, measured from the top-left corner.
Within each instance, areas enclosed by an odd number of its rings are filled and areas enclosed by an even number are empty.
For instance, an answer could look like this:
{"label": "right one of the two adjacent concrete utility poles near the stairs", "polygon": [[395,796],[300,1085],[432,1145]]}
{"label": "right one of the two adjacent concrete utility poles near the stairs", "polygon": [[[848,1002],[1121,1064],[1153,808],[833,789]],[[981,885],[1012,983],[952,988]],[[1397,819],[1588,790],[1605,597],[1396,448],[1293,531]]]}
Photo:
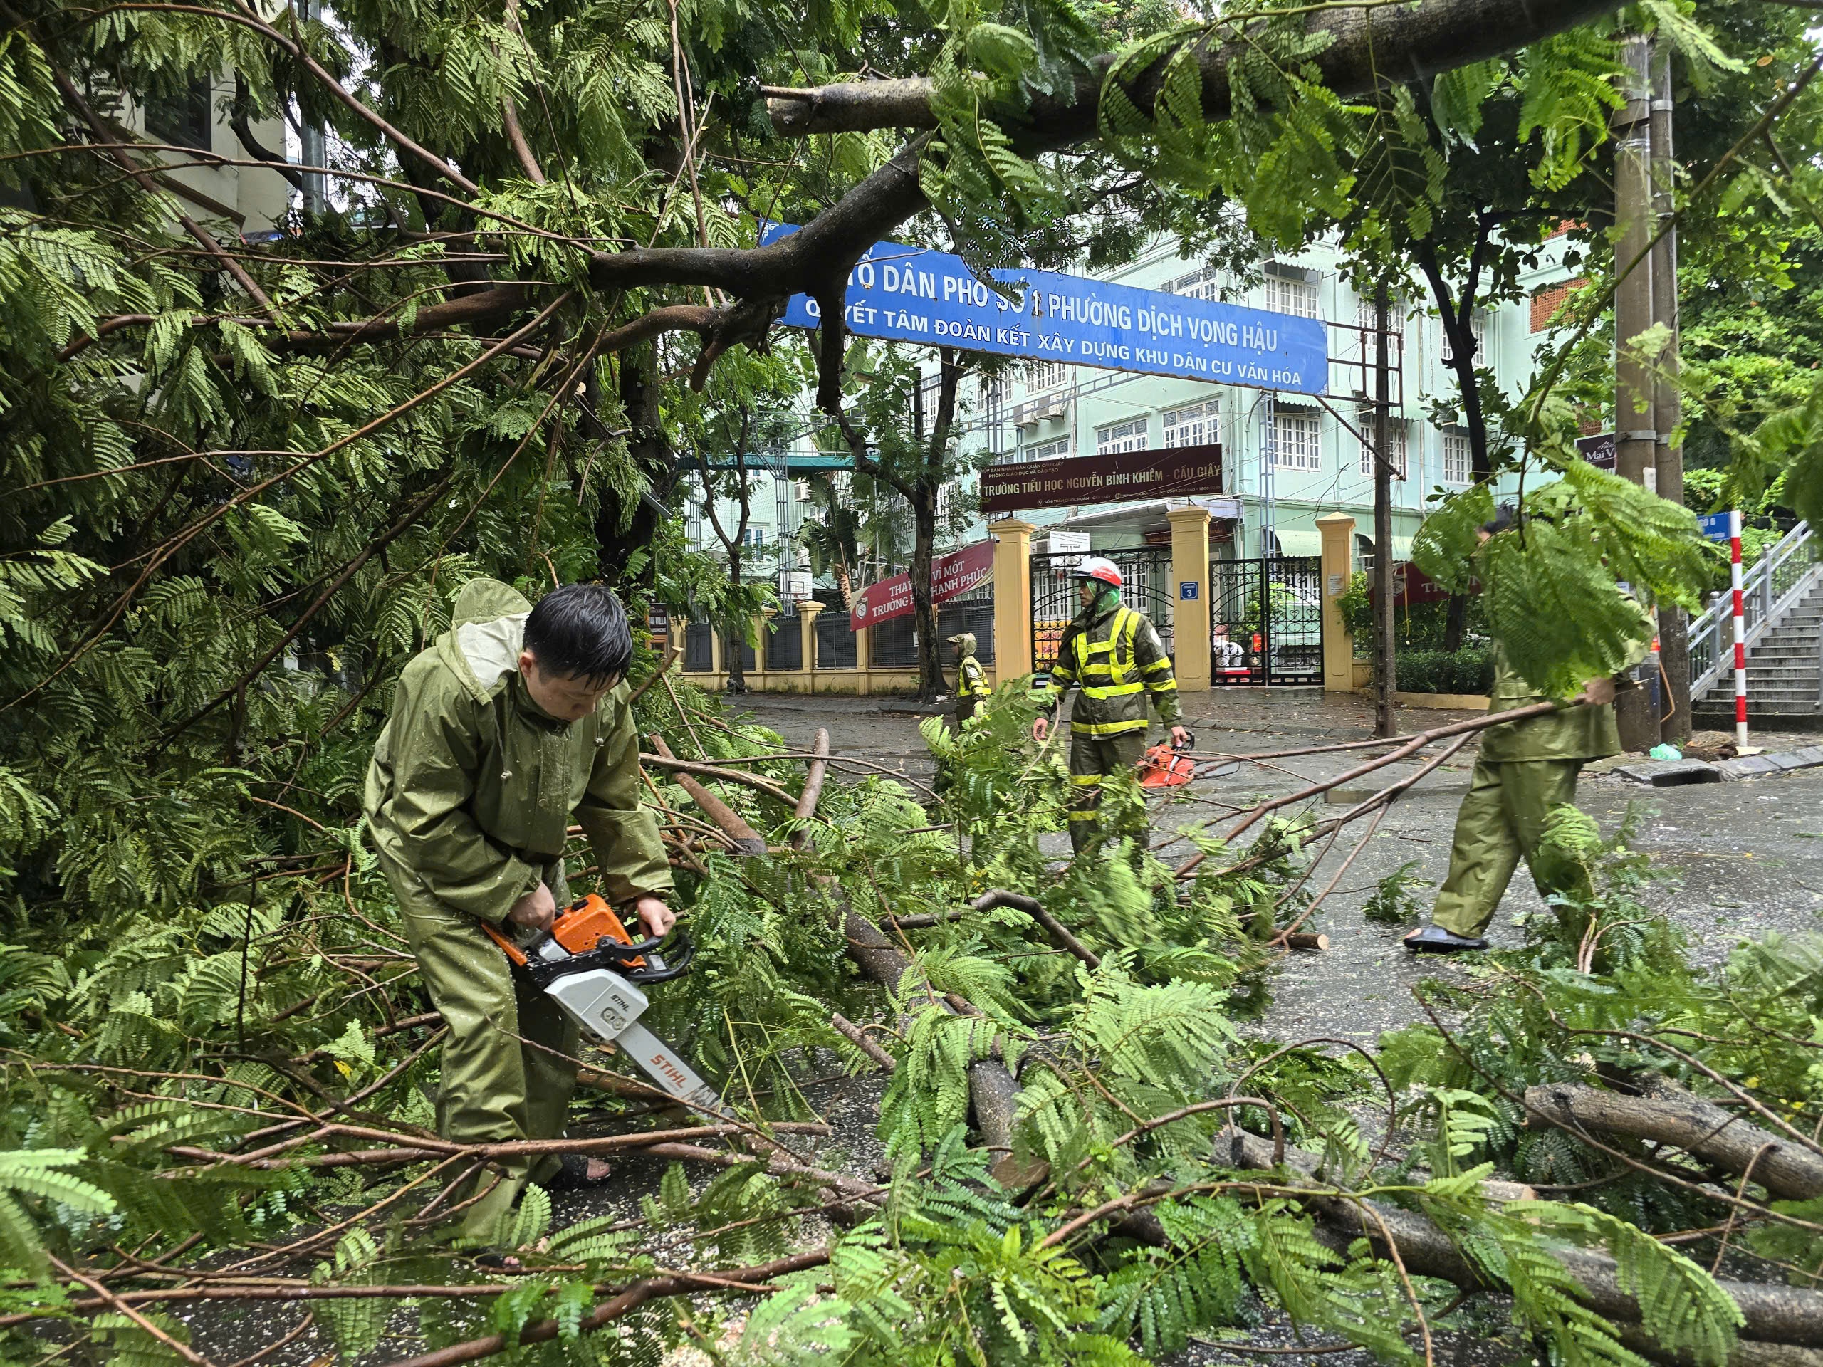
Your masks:
{"label": "right one of the two adjacent concrete utility poles near the stairs", "polygon": [[[1652,210],[1653,230],[1664,235],[1652,248],[1652,321],[1663,323],[1672,339],[1659,352],[1659,370],[1652,386],[1652,414],[1657,434],[1653,468],[1659,472],[1659,498],[1684,501],[1684,448],[1677,427],[1684,419],[1683,394],[1677,390],[1677,228],[1672,226],[1672,184],[1677,160],[1672,148],[1672,49],[1652,44]],[[1674,745],[1690,740],[1690,622],[1675,603],[1659,609],[1659,665],[1664,669],[1664,698],[1659,707],[1659,738]]]}

